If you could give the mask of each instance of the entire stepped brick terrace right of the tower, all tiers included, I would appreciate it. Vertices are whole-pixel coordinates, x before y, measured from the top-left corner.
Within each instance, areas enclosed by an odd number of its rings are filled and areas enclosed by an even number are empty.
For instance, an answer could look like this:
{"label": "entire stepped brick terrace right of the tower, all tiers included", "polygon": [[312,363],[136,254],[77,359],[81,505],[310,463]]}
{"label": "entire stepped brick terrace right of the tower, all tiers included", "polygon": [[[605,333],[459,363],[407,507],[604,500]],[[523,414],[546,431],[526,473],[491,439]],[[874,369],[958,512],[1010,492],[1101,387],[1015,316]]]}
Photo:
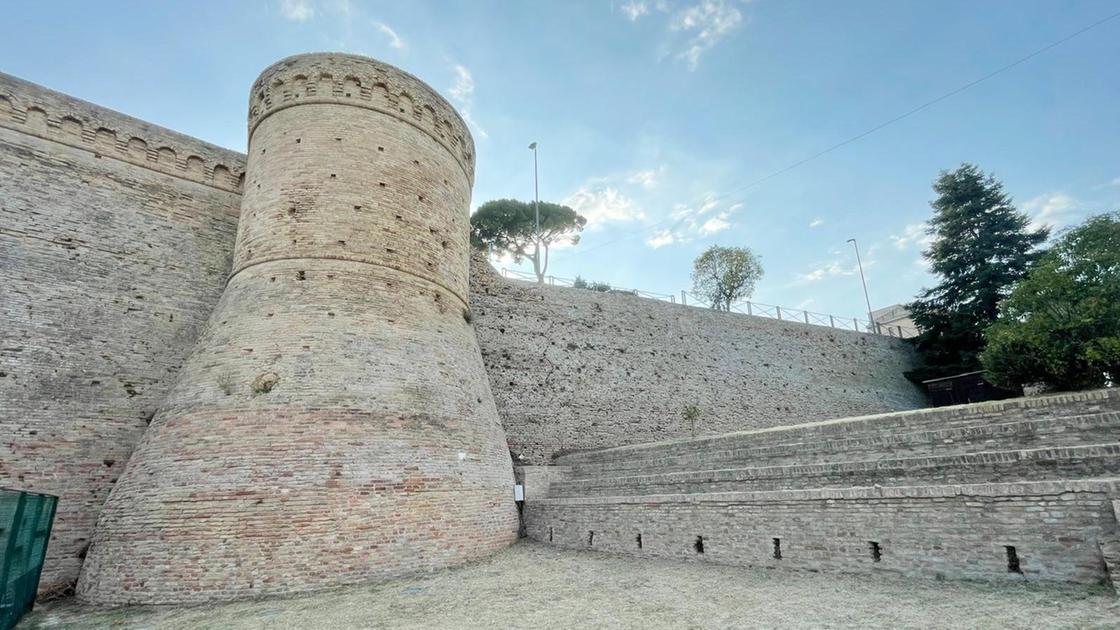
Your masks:
{"label": "entire stepped brick terrace right of the tower, all tiers included", "polygon": [[524,469],[525,521],[635,556],[1114,583],[1118,435],[1099,390],[578,453]]}

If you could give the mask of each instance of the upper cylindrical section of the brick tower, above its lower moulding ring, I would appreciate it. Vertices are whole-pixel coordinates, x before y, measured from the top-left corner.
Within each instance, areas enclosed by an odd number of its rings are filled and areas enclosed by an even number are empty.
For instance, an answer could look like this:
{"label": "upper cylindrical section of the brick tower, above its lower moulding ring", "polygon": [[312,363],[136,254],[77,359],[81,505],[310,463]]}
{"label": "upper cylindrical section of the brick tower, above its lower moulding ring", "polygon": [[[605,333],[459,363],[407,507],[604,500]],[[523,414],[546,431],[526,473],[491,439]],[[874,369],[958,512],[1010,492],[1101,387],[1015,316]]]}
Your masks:
{"label": "upper cylindrical section of the brick tower, above its lower moulding ring", "polygon": [[348,260],[423,278],[466,307],[473,154],[455,109],[404,71],[334,53],[269,66],[250,96],[232,275]]}

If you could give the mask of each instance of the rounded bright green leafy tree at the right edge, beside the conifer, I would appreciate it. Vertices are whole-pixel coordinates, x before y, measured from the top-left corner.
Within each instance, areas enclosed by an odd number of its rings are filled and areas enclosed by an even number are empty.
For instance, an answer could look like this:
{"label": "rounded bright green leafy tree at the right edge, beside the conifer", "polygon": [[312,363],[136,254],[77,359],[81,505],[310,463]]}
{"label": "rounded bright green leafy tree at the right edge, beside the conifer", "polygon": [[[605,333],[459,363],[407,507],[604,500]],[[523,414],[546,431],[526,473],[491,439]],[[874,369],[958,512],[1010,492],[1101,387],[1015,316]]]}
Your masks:
{"label": "rounded bright green leafy tree at the right edge, beside the conifer", "polygon": [[1120,213],[1063,233],[999,311],[980,355],[997,385],[1120,381]]}

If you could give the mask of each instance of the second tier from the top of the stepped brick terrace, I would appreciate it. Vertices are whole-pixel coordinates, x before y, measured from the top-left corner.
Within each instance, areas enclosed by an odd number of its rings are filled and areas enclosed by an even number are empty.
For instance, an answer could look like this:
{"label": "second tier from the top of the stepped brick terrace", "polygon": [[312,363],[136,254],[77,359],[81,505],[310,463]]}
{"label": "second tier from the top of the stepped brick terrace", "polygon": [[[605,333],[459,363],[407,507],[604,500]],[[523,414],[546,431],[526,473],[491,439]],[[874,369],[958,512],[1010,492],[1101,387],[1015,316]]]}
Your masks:
{"label": "second tier from the top of the stepped brick terrace", "polygon": [[607,474],[689,471],[698,467],[811,464],[926,455],[965,454],[1040,446],[1080,446],[1120,438],[1120,413],[1105,411],[1066,418],[1037,418],[981,426],[908,430],[838,439],[811,439],[792,432],[783,443],[718,448],[662,457],[627,457],[572,466],[570,479]]}

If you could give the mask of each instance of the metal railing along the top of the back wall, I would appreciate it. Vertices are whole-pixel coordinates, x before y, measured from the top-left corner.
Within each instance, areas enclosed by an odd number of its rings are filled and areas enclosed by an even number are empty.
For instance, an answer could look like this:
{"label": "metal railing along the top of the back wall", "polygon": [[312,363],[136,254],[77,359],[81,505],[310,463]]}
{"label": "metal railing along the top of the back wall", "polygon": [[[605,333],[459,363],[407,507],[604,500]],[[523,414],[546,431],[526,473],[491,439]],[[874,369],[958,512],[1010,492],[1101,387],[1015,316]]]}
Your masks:
{"label": "metal railing along the top of the back wall", "polygon": [[[536,275],[529,274],[525,271],[517,271],[516,269],[502,268],[503,278],[513,278],[517,280],[530,280],[535,282]],[[550,286],[560,287],[573,287],[576,286],[576,280],[572,278],[561,278],[559,276],[545,276],[544,284]],[[684,306],[694,306],[698,308],[711,308],[710,304],[698,299],[696,296],[688,291],[681,291],[680,300],[676,296],[670,294],[644,291],[640,289],[629,289],[615,287],[600,282],[590,282],[592,286],[606,286],[610,293],[626,293],[631,295],[636,295],[638,297],[645,297],[650,299],[660,299],[662,302],[670,302],[678,304],[678,302]],[[599,289],[590,289],[599,290]],[[841,317],[839,315],[829,315],[828,313],[814,313],[812,311],[805,311],[802,308],[790,308],[788,306],[777,306],[774,304],[762,304],[758,302],[738,302],[731,305],[731,312],[741,313],[744,315],[754,315],[755,317],[768,317],[771,319],[781,319],[783,322],[796,322],[800,324],[809,324],[810,326],[829,326],[831,328],[841,328],[846,331],[856,331],[861,333],[871,333],[884,336],[892,336],[898,339],[907,339],[912,336],[917,336],[918,331],[908,326],[898,326],[890,324],[880,324],[878,322],[869,322],[867,319],[860,319],[858,317]]]}

